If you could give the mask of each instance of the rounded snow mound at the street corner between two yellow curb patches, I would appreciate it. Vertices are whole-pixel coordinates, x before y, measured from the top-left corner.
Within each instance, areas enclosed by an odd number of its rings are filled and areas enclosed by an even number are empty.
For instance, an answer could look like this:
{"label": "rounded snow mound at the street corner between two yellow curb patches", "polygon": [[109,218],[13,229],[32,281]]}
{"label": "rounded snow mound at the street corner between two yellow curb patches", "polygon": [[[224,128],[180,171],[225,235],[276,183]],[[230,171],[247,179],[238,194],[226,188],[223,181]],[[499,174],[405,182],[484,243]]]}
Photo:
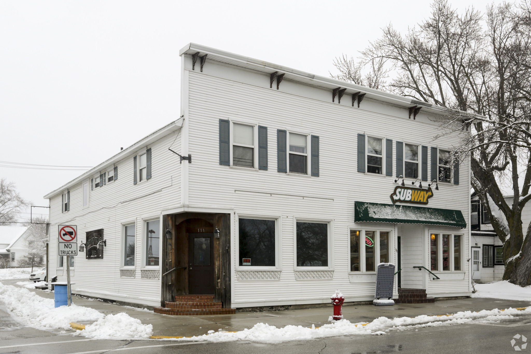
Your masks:
{"label": "rounded snow mound at the street corner between two yellow curb patches", "polygon": [[149,338],[153,335],[153,325],[142,324],[137,318],[121,312],[100,318],[95,323],[87,325],[84,330],[76,331],[75,335],[96,339]]}

